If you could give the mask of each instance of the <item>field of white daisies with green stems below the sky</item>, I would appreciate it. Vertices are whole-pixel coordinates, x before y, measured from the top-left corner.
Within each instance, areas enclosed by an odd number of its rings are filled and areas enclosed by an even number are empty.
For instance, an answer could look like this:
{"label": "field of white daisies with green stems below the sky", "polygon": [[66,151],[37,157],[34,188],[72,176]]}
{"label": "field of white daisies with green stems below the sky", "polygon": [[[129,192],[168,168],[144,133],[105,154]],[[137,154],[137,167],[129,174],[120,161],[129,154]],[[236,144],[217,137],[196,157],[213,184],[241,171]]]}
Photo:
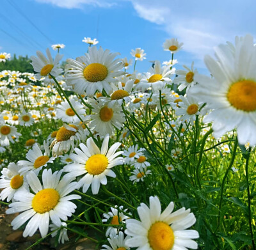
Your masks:
{"label": "field of white daisies with green stems below the sky", "polygon": [[59,44],[55,58],[31,56],[34,74],[0,72],[0,202],[19,212],[13,230],[102,250],[256,249],[253,37],[205,56],[208,76],[175,69],[174,38],[170,61],[148,72],[136,70],[141,48],[127,59],[83,42],[62,65]]}

